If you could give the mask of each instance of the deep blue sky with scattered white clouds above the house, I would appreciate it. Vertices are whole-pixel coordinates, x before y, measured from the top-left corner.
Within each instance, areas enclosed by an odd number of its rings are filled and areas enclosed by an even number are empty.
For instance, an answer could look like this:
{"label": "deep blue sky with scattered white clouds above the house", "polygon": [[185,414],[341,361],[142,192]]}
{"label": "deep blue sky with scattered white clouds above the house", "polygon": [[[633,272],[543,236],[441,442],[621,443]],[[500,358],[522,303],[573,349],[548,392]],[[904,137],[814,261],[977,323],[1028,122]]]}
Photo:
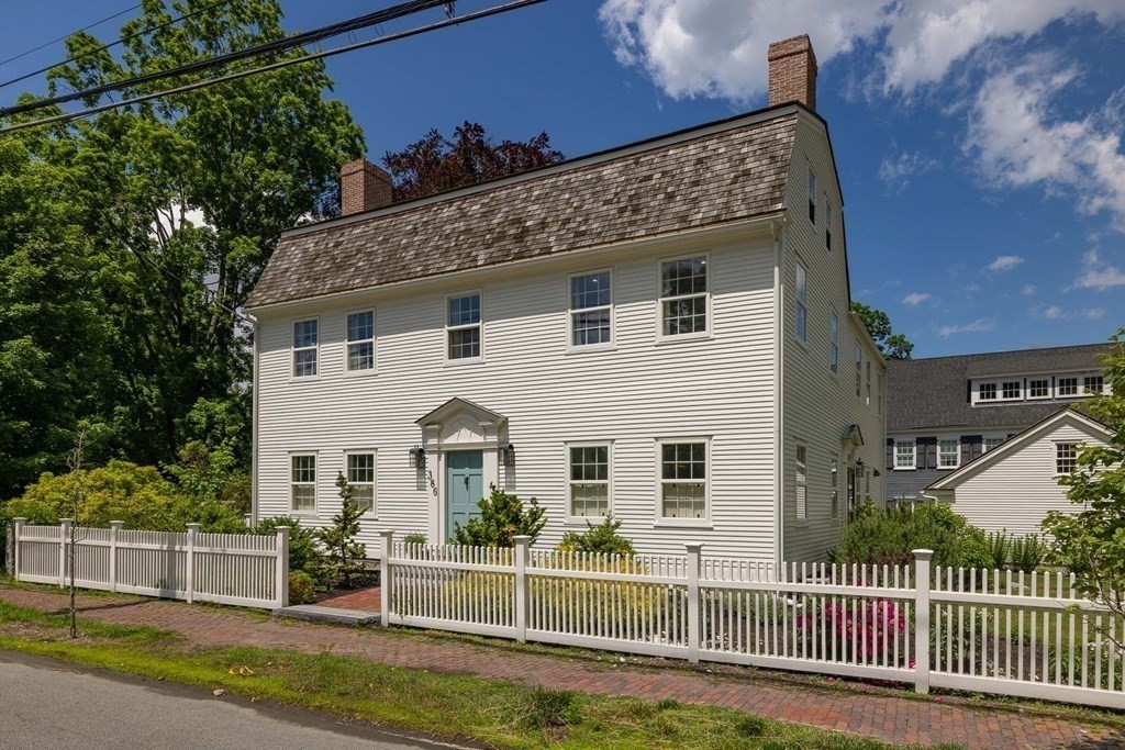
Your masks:
{"label": "deep blue sky with scattered white clouds above the house", "polygon": [[[0,58],[129,2],[14,4],[0,9]],[[390,3],[281,4],[298,30]],[[1125,325],[1125,2],[881,4],[549,0],[328,67],[372,160],[465,119],[496,137],[547,130],[575,156],[764,106],[766,45],[807,31],[853,296],[885,309],[916,356],[1108,337]],[[94,31],[116,36],[117,22]]]}

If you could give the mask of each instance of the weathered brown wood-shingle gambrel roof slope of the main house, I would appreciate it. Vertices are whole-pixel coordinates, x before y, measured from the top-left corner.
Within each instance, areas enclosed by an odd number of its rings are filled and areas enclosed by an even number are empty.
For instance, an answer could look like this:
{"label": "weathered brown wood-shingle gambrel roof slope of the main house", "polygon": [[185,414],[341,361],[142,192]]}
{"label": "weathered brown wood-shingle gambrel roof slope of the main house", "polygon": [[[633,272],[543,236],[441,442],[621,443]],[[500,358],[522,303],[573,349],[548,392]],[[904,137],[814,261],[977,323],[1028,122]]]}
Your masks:
{"label": "weathered brown wood-shingle gambrel roof slope of the main house", "polygon": [[792,109],[496,187],[282,235],[246,307],[566,253],[781,210]]}

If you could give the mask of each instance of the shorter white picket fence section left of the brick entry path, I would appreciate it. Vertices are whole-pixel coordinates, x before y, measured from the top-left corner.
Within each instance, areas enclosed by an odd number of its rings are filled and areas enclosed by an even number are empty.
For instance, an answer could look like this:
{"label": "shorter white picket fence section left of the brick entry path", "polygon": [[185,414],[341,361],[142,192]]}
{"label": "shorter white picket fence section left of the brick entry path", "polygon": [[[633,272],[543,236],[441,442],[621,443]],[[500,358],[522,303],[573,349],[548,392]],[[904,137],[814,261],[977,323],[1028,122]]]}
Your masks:
{"label": "shorter white picket fence section left of the brick entry path", "polygon": [[[273,536],[79,527],[74,584],[123,594],[276,609],[289,604],[289,530]],[[70,585],[71,521],[14,524],[16,580]]]}

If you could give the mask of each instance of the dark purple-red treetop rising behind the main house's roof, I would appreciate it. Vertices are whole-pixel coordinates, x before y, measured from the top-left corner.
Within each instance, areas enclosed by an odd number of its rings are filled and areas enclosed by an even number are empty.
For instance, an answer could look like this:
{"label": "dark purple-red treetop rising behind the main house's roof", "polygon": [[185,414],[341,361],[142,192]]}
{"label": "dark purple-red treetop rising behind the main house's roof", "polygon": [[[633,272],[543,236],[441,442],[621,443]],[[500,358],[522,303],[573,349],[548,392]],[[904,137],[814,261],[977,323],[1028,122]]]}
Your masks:
{"label": "dark purple-red treetop rising behind the main house's roof", "polygon": [[382,165],[395,179],[395,201],[519,174],[562,161],[540,133],[530,141],[493,143],[484,126],[466,120],[447,138],[436,129],[399,152],[387,152]]}

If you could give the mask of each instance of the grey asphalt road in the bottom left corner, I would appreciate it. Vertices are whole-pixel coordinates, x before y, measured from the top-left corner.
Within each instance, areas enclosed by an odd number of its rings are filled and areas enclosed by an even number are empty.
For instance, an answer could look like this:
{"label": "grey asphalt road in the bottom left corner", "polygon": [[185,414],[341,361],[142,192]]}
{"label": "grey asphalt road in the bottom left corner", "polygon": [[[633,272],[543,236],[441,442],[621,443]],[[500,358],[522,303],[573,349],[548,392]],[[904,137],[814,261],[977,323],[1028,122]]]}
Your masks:
{"label": "grey asphalt road in the bottom left corner", "polygon": [[449,750],[447,744],[300,708],[0,651],[0,750],[332,748]]}

